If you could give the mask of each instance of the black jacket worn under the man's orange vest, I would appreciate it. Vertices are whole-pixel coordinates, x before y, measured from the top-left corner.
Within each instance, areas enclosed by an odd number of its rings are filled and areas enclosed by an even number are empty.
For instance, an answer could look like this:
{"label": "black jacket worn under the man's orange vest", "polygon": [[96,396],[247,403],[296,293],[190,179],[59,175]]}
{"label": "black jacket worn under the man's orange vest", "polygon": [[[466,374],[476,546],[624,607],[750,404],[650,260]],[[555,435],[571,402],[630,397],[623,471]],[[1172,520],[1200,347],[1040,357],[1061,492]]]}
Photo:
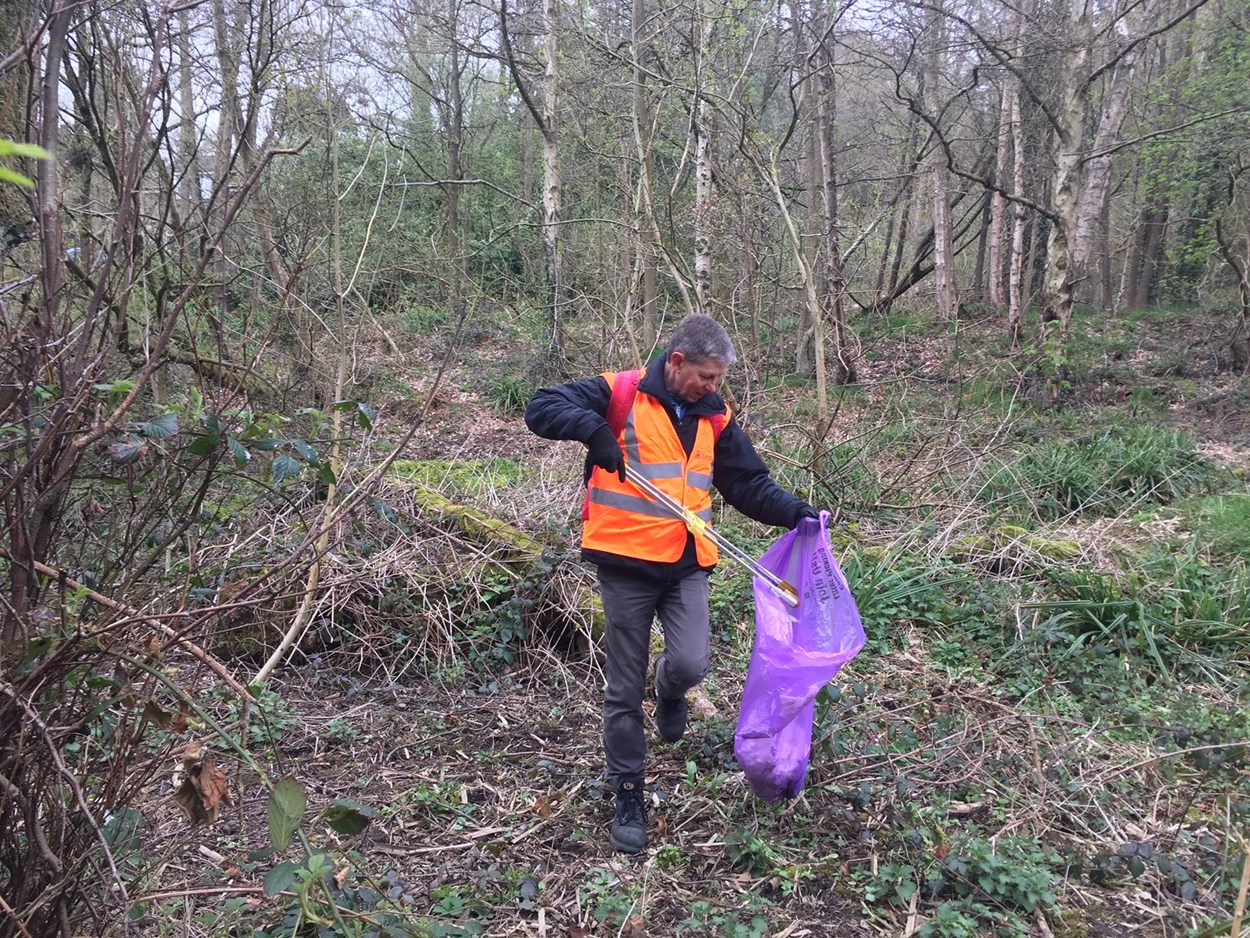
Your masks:
{"label": "black jacket worn under the man's orange vest", "polygon": [[[725,401],[719,394],[705,394],[696,403],[686,406],[685,418],[678,420],[672,400],[664,386],[665,356],[656,358],[646,369],[646,376],[638,385],[639,394],[650,394],[664,405],[669,419],[676,428],[678,438],[690,455],[695,445],[698,420],[700,416],[724,414]],[[549,440],[579,440],[589,443],[600,426],[608,425],[608,405],[611,401],[611,388],[600,376],[582,378],[555,388],[541,388],[525,408],[525,424],[539,436]],[[590,461],[586,460],[585,478],[590,479]],[[799,512],[806,503],[782,489],[769,475],[764,460],[751,445],[746,431],[730,419],[716,440],[712,451],[711,482],[721,497],[745,514],[762,524],[792,528],[799,520]],[[601,550],[582,550],[585,560],[595,564],[628,568],[646,577],[676,580],[700,567],[695,557],[694,535],[686,538],[686,549],[674,563],[640,560],[632,557],[609,554]]]}

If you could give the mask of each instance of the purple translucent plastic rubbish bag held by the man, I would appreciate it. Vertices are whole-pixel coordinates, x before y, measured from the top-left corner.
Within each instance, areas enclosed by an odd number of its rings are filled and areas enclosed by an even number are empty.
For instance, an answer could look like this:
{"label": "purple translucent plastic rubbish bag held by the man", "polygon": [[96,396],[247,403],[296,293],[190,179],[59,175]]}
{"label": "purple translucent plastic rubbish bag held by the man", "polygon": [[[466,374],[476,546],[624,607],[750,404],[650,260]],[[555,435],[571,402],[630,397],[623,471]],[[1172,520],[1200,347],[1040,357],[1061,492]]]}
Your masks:
{"label": "purple translucent plastic rubbish bag held by the man", "polygon": [[755,648],[742,688],[734,755],[756,795],[802,790],[816,694],[864,647],[864,624],[829,543],[829,512],[804,520],[760,564],[799,590],[794,608],[755,580]]}

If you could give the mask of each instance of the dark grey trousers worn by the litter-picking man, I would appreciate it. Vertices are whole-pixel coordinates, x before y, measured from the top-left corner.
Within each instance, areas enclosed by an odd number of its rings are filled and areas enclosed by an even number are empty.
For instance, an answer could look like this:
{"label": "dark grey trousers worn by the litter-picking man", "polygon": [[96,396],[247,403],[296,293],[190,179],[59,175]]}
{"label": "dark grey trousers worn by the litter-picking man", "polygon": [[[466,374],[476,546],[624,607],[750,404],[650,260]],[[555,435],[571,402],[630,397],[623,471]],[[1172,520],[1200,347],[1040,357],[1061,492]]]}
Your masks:
{"label": "dark grey trousers worn by the litter-picking man", "polygon": [[606,644],[604,758],[608,780],[619,784],[646,770],[642,697],[651,622],[660,617],[664,654],[655,663],[655,693],[678,698],[708,677],[708,574],[676,583],[639,579],[611,568],[599,569]]}

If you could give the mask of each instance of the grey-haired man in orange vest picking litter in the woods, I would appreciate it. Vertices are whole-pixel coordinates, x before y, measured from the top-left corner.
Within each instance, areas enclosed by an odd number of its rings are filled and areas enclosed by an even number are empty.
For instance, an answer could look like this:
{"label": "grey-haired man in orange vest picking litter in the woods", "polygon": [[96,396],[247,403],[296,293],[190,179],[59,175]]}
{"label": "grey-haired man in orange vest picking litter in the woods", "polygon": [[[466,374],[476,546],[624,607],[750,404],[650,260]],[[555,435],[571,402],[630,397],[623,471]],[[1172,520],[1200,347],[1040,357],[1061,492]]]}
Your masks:
{"label": "grey-haired man in orange vest picking litter in the woods", "polygon": [[792,528],[818,517],[772,482],[716,393],[736,359],[720,324],[691,315],[641,376],[605,371],[542,388],[525,409],[539,436],[589,448],[581,555],[599,568],[604,599],[604,755],[616,789],[610,840],[624,853],[646,847],[642,697],[651,622],[659,614],[665,649],[655,663],[655,724],[675,743],[686,729],[686,692],[708,675],[708,574],[718,560],[715,544],[626,482],[626,464],[704,520],[711,518],[712,487],[764,524]]}

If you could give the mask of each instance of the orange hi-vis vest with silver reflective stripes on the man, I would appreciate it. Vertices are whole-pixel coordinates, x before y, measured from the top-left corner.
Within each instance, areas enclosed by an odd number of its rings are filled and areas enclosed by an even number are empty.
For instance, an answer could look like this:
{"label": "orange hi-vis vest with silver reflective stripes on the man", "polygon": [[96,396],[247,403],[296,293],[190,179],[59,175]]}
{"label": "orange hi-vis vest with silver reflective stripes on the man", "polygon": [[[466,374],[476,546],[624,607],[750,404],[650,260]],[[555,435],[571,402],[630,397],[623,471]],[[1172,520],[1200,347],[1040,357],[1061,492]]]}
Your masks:
{"label": "orange hi-vis vest with silver reflective stripes on the man", "polygon": [[[602,374],[615,389],[616,373]],[[724,421],[728,423],[729,413]],[[612,428],[616,430],[616,428]],[[650,394],[638,394],[616,430],[616,441],[629,465],[705,522],[711,522],[711,464],[716,433],[710,418],[699,418],[695,444],[686,456],[678,430],[664,405]],[[588,483],[589,517],[581,547],[640,560],[674,563],[686,547],[686,525],[616,473],[594,466]],[[695,538],[699,564],[711,567],[720,558],[716,545]]]}

